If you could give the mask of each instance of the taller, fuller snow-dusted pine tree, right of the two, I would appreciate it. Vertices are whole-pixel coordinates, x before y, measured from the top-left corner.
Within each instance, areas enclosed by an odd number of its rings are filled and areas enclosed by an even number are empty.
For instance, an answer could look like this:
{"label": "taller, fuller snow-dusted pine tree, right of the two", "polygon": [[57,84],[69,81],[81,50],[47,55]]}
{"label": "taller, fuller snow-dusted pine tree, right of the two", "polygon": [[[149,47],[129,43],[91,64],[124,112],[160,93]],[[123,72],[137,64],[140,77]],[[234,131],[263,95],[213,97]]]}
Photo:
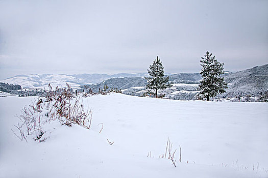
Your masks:
{"label": "taller, fuller snow-dusted pine tree, right of the two", "polygon": [[205,57],[201,58],[202,69],[200,74],[203,79],[200,81],[198,90],[200,90],[200,94],[209,101],[210,97],[223,94],[225,93],[225,88],[228,88],[224,77],[221,77],[221,75],[224,74],[224,63],[218,62],[215,56],[212,56],[212,53],[208,51]]}

